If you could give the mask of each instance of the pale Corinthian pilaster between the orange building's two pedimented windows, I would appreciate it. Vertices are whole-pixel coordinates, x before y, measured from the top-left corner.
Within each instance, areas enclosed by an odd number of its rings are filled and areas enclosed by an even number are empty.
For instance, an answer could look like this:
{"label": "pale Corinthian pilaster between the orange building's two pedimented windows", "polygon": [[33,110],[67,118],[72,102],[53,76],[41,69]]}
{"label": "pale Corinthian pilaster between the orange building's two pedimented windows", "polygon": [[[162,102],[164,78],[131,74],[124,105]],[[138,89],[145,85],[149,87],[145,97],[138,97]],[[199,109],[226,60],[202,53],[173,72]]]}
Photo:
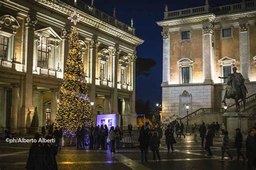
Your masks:
{"label": "pale Corinthian pilaster between the orange building's two pedimented windows", "polygon": [[213,25],[210,23],[203,27],[203,75],[205,83],[213,82],[213,51],[212,51]]}

